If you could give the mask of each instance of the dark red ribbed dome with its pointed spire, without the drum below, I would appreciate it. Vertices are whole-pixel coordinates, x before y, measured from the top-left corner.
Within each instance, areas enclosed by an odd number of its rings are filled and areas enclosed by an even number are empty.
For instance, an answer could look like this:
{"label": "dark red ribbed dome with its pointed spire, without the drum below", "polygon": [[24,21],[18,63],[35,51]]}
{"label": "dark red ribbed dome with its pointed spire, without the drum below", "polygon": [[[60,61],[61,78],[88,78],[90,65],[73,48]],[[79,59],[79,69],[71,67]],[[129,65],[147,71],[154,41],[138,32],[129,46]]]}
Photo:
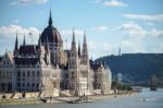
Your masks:
{"label": "dark red ribbed dome with its pointed spire, without the drum below", "polygon": [[49,17],[49,25],[43,29],[40,40],[42,44],[47,43],[62,43],[62,37],[58,29],[52,26],[52,17],[51,17],[51,11],[50,11],[50,17]]}

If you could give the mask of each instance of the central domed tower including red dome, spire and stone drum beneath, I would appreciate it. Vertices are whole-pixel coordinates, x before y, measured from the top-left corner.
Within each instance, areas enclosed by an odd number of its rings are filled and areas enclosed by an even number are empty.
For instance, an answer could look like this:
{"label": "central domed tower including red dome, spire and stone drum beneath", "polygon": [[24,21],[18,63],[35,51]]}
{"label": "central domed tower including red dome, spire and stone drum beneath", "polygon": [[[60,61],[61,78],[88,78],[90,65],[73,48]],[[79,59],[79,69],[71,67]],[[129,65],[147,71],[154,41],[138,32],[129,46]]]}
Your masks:
{"label": "central domed tower including red dome, spire and stone drum beneath", "polygon": [[[43,29],[40,35],[40,40],[42,46],[49,45],[49,51],[51,55],[50,61],[52,64],[62,64],[62,50],[63,50],[63,40],[59,31],[52,25],[52,12],[50,10],[48,26]],[[48,38],[48,40],[47,40]]]}

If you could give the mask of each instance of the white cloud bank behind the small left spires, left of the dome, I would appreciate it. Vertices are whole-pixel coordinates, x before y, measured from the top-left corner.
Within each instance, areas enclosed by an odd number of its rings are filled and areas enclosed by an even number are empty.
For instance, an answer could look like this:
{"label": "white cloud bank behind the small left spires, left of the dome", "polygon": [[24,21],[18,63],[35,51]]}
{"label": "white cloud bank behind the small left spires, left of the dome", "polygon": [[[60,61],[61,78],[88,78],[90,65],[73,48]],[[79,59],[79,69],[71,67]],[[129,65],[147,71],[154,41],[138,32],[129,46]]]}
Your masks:
{"label": "white cloud bank behind the small left spires, left of the dome", "polygon": [[[36,27],[24,28],[20,25],[9,25],[0,27],[0,38],[1,39],[13,39],[15,38],[15,34],[17,33],[18,39],[23,39],[24,35],[26,36],[26,40],[29,43],[33,38],[33,43],[38,41],[39,29]],[[33,34],[33,36],[29,35]]]}

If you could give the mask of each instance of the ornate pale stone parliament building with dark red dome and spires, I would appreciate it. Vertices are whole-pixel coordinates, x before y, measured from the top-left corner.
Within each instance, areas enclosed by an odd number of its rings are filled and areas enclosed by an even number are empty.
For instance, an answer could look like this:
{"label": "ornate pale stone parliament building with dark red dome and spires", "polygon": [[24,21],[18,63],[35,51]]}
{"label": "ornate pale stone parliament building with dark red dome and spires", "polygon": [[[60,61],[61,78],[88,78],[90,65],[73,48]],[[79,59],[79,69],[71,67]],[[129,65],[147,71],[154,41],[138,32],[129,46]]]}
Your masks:
{"label": "ornate pale stone parliament building with dark red dome and spires", "polygon": [[13,52],[0,56],[1,93],[39,93],[40,97],[110,94],[111,70],[89,60],[86,34],[83,47],[76,46],[73,31],[71,49],[63,49],[63,39],[49,24],[37,45],[18,45],[16,35]]}

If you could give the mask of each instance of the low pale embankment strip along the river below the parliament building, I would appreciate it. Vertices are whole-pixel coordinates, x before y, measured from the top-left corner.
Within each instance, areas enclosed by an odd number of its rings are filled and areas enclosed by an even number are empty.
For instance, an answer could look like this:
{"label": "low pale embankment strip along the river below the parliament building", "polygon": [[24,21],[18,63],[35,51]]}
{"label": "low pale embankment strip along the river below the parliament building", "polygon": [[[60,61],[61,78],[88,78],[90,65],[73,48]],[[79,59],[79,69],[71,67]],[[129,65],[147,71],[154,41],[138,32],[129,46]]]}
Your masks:
{"label": "low pale embankment strip along the river below the parliament building", "polygon": [[[124,96],[135,96],[138,92],[122,92],[122,93],[115,93],[115,94],[109,94],[109,95],[92,95],[88,96],[88,98],[91,98],[93,100],[101,100],[101,99],[112,99],[112,98],[121,98]],[[48,104],[62,104],[67,103],[71,99],[76,99],[78,97],[54,97],[52,98],[51,103]],[[0,106],[4,105],[35,105],[35,104],[47,104],[40,100],[40,98],[20,98],[20,99],[0,99]]]}

